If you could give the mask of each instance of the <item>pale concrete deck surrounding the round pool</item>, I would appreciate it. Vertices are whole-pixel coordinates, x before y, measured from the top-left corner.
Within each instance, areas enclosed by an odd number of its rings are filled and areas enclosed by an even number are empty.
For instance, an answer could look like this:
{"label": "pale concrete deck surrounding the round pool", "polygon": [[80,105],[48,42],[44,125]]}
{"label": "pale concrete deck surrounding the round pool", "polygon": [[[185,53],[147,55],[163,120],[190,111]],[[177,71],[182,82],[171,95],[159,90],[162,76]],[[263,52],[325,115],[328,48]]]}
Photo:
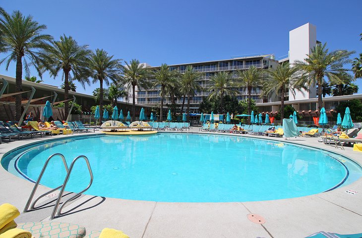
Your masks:
{"label": "pale concrete deck surrounding the round pool", "polygon": [[[193,132],[198,132],[198,127],[192,128],[188,133]],[[87,134],[97,133],[100,132]],[[74,136],[77,135],[79,134]],[[5,142],[0,145],[0,157],[27,143],[70,136]],[[286,141],[284,138],[246,136],[321,148],[347,156],[362,165],[362,153],[353,151],[351,147],[345,147],[346,150],[342,151],[340,148],[324,145],[318,142],[318,138],[299,137]],[[8,202],[22,211],[33,185],[1,167],[0,204]],[[349,189],[358,193],[346,193]],[[46,187],[39,186],[36,194],[47,190]],[[48,221],[51,211],[52,207],[46,207],[22,213],[15,221]],[[69,212],[53,221],[79,224],[86,227],[88,232],[105,227],[114,228],[122,230],[130,238],[302,238],[318,231],[354,234],[362,233],[362,179],[329,192],[259,202],[168,203],[84,195],[67,205],[63,209],[63,212],[66,211]],[[266,223],[252,223],[247,218],[250,213],[259,214],[265,218]]]}

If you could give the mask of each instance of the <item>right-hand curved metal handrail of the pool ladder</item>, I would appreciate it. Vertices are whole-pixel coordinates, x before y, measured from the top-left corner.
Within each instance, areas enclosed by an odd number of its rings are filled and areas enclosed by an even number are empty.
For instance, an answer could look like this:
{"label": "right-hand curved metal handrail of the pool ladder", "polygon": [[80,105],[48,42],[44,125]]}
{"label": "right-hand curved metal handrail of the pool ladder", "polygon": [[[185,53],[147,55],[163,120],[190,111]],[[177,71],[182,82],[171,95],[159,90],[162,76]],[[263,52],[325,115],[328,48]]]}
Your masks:
{"label": "right-hand curved metal handrail of the pool ladder", "polygon": [[[65,190],[65,186],[66,186],[66,183],[68,182],[69,180],[69,177],[70,177],[70,174],[71,174],[71,171],[73,170],[73,167],[74,167],[74,164],[75,162],[80,159],[80,158],[83,158],[85,160],[85,162],[87,163],[87,167],[88,167],[88,171],[89,171],[89,175],[90,175],[90,181],[89,181],[89,184],[88,186],[83,189],[82,191],[78,192],[77,194],[75,194],[74,196],[68,198],[66,201],[63,202],[63,204],[61,204],[60,208],[58,209],[59,207],[59,204],[60,204],[60,199],[64,193],[64,190]],[[61,187],[61,190],[60,190],[60,193],[59,193],[59,196],[58,196],[58,199],[56,201],[56,205],[54,206],[54,209],[53,209],[53,212],[52,212],[52,215],[50,216],[50,220],[54,219],[56,215],[59,215],[60,212],[61,212],[61,209],[63,209],[63,207],[65,206],[65,204],[67,204],[68,202],[78,198],[80,195],[82,195],[83,192],[85,192],[86,190],[88,190],[88,188],[92,185],[92,182],[93,182],[93,172],[92,172],[92,169],[90,167],[90,164],[89,164],[89,160],[86,156],[84,155],[80,155],[78,157],[76,157],[70,164],[70,167],[69,167],[69,170],[68,170],[68,173],[66,174],[66,177],[64,179],[64,182],[63,182],[63,185]]]}

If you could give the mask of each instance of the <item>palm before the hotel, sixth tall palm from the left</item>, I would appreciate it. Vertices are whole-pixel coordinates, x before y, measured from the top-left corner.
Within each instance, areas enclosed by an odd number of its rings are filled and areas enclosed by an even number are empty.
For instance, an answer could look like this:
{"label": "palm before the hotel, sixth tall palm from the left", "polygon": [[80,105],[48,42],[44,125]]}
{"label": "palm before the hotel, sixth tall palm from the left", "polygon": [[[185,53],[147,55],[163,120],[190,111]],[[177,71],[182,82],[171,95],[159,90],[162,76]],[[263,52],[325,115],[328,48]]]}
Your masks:
{"label": "palm before the hotel, sixth tall palm from the left", "polygon": [[186,112],[187,119],[189,119],[190,115],[191,97],[195,95],[196,91],[203,90],[203,88],[198,83],[198,80],[201,77],[201,75],[202,73],[194,70],[192,66],[187,66],[184,73],[181,74],[181,92],[183,93],[183,95],[187,95],[187,112]]}

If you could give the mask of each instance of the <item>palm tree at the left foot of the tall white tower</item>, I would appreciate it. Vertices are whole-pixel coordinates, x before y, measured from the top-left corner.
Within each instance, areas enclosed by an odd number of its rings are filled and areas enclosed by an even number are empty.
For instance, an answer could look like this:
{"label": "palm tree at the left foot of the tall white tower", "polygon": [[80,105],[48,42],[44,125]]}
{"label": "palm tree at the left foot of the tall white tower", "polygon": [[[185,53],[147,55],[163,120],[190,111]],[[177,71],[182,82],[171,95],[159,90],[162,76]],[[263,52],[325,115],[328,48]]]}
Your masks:
{"label": "palm tree at the left foot of the tall white tower", "polygon": [[[304,84],[299,85],[298,69],[295,67],[290,67],[289,63],[284,62],[279,64],[277,68],[269,68],[265,70],[266,76],[263,83],[263,91],[260,94],[260,97],[266,95],[277,94],[280,95],[280,120],[283,124],[284,119],[284,101],[285,93],[291,91],[295,95],[296,90],[301,91],[301,89],[307,89]],[[290,90],[289,90],[290,89]]]}

